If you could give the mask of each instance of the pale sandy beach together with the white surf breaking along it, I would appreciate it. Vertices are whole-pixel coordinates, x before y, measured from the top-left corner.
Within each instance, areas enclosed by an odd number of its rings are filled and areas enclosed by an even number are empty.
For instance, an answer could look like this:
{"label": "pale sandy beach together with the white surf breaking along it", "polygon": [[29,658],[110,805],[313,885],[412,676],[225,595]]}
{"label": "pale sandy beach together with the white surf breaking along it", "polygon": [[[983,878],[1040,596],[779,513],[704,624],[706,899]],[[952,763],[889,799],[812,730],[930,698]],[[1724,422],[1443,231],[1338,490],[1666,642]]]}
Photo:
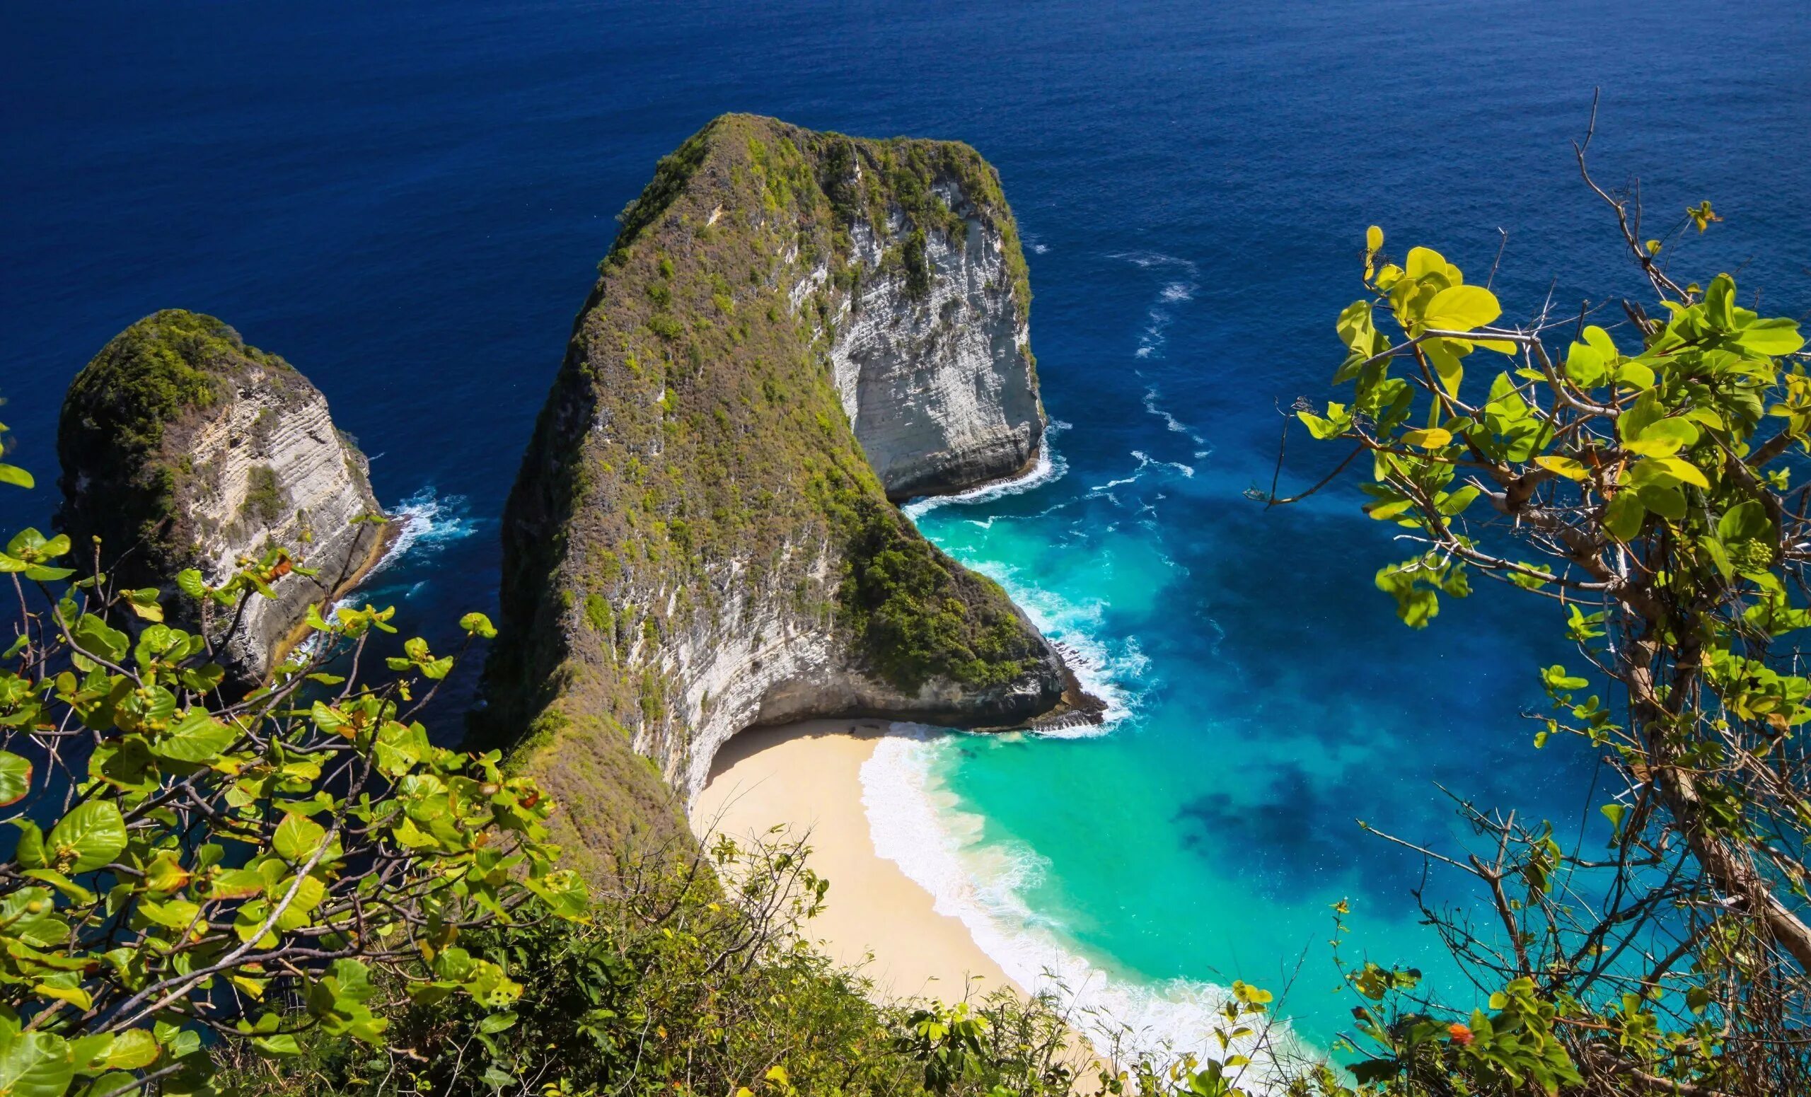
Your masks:
{"label": "pale sandy beach together with the white surf breaking along it", "polygon": [[[714,835],[743,840],[773,827],[808,836],[808,863],[829,880],[829,891],[824,912],[804,923],[802,936],[838,967],[873,979],[875,1001],[954,1003],[1000,988],[1029,996],[1027,981],[1054,990],[1074,1035],[1078,1092],[1092,1092],[1088,1079],[1099,1070],[1101,1048],[1119,1037],[1125,1039],[1119,1054],[1145,1054],[1159,1063],[1183,1052],[1217,1057],[1210,1034],[1230,999],[1226,987],[1128,979],[1041,932],[1016,936],[1011,927],[991,925],[985,914],[976,921],[978,903],[987,900],[974,887],[987,885],[956,878],[965,873],[947,862],[947,851],[938,853],[936,824],[922,816],[936,807],[916,804],[911,782],[875,789],[864,784],[869,762],[886,769],[898,760],[877,758],[877,751],[891,753],[880,751],[882,744],[902,746],[906,739],[913,739],[909,726],[848,717],[741,731],[717,751],[710,780],[688,813],[692,831],[703,840]],[[913,800],[904,811],[891,795],[900,789]],[[915,865],[911,871],[907,862]],[[927,871],[934,882],[920,883]],[[931,891],[945,885],[954,891],[942,896]],[[938,903],[960,912],[944,914]],[[1235,1037],[1221,1054],[1250,1055],[1250,1079],[1259,1092],[1270,1092],[1282,1077],[1282,1064],[1320,1059],[1320,1052],[1293,1035],[1286,1014],[1273,1016],[1260,1032]]]}

